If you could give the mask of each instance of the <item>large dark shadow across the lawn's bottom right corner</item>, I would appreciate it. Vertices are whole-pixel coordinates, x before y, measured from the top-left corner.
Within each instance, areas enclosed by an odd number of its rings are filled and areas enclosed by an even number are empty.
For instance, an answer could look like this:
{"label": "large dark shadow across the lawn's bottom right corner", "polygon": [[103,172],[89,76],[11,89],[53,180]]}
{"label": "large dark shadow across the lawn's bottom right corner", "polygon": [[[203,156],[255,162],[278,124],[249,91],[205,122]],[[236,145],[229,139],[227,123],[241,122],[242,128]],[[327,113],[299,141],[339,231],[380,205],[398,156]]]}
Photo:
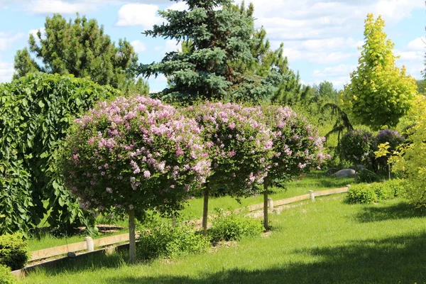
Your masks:
{"label": "large dark shadow across the lawn's bottom right corner", "polygon": [[[333,247],[295,251],[311,256],[309,263],[277,263],[266,270],[231,269],[207,275],[116,275],[108,283],[425,283],[426,233],[389,239],[354,241]],[[312,261],[315,259],[315,261]],[[262,259],[258,260],[259,263]]]}

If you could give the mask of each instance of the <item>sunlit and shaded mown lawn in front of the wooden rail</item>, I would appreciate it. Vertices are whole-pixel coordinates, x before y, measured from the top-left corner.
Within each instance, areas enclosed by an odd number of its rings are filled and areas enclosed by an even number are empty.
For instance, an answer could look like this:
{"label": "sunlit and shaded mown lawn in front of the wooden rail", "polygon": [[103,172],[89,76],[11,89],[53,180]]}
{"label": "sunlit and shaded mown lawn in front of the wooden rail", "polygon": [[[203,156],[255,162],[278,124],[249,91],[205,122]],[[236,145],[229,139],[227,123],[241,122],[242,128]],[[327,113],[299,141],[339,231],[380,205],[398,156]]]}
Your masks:
{"label": "sunlit and shaded mown lawn in front of the wooden rail", "polygon": [[425,283],[426,214],[404,200],[344,204],[344,195],[271,215],[270,236],[151,264],[126,255],[42,268],[22,283]]}

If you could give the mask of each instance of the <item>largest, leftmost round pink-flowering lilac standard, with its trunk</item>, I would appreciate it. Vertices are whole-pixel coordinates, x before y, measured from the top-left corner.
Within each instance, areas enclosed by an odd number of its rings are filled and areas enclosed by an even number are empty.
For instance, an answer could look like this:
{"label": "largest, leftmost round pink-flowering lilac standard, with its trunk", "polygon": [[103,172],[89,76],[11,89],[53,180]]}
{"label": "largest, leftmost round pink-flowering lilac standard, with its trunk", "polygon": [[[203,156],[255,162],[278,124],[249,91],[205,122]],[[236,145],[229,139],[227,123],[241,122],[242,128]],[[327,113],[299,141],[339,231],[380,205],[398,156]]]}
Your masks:
{"label": "largest, leftmost round pink-flowering lilac standard, with its trunk", "polygon": [[143,96],[101,102],[70,129],[62,154],[66,185],[84,208],[129,214],[131,260],[135,215],[181,209],[187,192],[209,175],[200,132],[194,120]]}

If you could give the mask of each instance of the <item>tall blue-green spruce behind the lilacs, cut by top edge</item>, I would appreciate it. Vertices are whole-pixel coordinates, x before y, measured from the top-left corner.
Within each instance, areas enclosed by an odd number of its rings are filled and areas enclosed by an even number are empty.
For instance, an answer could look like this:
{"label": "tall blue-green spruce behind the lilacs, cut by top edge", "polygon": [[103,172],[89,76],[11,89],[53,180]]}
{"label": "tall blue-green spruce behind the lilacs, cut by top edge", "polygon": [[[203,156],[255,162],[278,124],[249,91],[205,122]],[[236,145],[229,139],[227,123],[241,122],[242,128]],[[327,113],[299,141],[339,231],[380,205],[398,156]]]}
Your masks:
{"label": "tall blue-green spruce behind the lilacs, cut by top edge", "polygon": [[159,11],[165,23],[145,35],[185,42],[185,52],[166,53],[160,62],[140,65],[145,77],[168,77],[170,86],[158,97],[192,101],[205,99],[259,100],[273,92],[271,78],[245,74],[253,64],[253,17],[232,9],[231,0],[186,0],[187,11]]}

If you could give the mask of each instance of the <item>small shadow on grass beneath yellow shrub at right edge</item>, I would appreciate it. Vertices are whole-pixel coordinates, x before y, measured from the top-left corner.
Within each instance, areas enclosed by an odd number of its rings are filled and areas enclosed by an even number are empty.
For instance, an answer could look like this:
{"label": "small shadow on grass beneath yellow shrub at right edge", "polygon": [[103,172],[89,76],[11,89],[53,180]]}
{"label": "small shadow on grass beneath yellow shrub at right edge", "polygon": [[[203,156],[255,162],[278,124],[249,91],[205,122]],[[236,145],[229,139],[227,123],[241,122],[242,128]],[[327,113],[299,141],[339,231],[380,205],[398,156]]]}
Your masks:
{"label": "small shadow on grass beneath yellow shrub at right edge", "polygon": [[364,207],[356,220],[361,223],[380,222],[394,219],[410,219],[416,217],[426,217],[426,211],[413,208],[407,202],[400,202],[392,206],[376,207],[374,205]]}

